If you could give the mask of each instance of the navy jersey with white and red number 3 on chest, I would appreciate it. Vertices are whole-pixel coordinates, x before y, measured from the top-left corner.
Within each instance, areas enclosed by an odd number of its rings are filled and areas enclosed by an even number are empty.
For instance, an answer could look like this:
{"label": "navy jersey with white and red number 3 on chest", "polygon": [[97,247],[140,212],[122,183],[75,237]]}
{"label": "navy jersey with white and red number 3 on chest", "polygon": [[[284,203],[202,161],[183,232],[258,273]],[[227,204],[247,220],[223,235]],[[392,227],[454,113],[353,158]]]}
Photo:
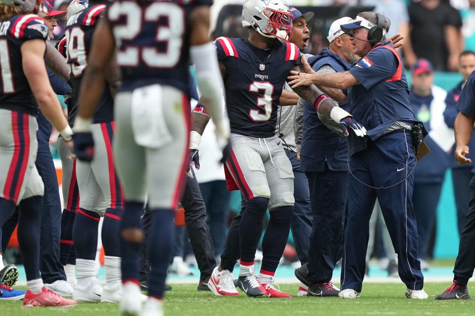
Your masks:
{"label": "navy jersey with white and red number 3 on chest", "polygon": [[218,38],[218,60],[226,66],[224,86],[231,132],[250,137],[276,133],[277,107],[289,71],[300,62],[295,44],[260,49],[247,40]]}

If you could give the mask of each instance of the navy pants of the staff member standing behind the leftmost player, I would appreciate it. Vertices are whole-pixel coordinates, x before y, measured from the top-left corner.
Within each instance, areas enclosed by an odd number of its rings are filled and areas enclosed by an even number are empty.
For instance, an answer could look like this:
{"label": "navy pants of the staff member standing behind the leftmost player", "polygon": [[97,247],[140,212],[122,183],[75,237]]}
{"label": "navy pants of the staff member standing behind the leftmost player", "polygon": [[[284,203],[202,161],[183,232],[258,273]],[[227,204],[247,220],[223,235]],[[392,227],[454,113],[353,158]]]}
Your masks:
{"label": "navy pants of the staff member standing behind the leftmost player", "polygon": [[[40,137],[38,139],[41,141]],[[45,283],[53,283],[57,280],[66,280],[63,266],[59,262],[61,202],[58,179],[51,153],[39,152],[35,164],[45,184],[40,233],[40,272]],[[15,209],[13,216],[2,226],[1,249],[3,251],[5,251],[17,223],[18,207]]]}

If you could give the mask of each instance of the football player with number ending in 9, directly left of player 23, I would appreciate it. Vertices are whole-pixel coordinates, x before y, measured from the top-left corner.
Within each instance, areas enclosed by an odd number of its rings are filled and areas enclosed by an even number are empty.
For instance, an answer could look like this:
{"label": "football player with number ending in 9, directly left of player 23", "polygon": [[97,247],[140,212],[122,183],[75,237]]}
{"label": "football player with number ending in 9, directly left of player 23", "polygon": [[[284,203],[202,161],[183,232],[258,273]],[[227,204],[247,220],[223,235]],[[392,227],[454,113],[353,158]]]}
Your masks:
{"label": "football player with number ending in 9, directly left of player 23", "polygon": [[[96,4],[99,1],[91,1]],[[69,17],[65,30],[66,55],[71,68],[73,84],[69,119],[76,114],[79,89],[84,71],[88,66],[91,40],[105,4],[91,5]],[[110,67],[114,69],[114,67]],[[116,78],[107,76],[107,78]],[[108,82],[109,83],[109,82]],[[110,84],[116,84],[111,80]],[[113,99],[109,84],[104,85],[91,124],[95,147],[95,159],[76,161],[76,179],[79,187],[79,209],[74,219],[72,239],[76,251],[77,284],[73,298],[78,302],[118,303],[121,296],[119,228],[122,216],[122,189],[115,173],[112,141],[115,123]],[[81,152],[78,152],[79,154]],[[82,156],[80,157],[82,158]],[[97,281],[95,253],[100,217],[104,217],[101,240],[104,247],[105,287]]]}

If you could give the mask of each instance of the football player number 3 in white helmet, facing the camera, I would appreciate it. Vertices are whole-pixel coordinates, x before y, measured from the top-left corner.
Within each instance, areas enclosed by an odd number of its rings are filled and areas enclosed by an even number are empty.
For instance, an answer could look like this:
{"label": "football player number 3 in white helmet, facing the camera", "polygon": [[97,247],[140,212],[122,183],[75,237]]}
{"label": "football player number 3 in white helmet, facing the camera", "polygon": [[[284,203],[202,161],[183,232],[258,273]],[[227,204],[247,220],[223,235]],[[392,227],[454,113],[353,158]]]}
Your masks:
{"label": "football player number 3 in white helmet, facing the camera", "polygon": [[[242,25],[250,30],[247,40],[216,40],[231,121],[231,158],[225,168],[228,188],[239,189],[247,202],[238,234],[228,235],[225,247],[239,245],[238,286],[248,296],[289,297],[272,285],[294,204],[292,166],[275,131],[279,98],[290,70],[300,69],[300,52],[295,44],[287,42],[292,32],[292,14],[284,0],[247,0],[243,4]],[[332,112],[346,135],[348,128],[358,136],[365,134],[364,127],[318,88],[294,91],[320,113],[330,116]],[[193,113],[194,144],[199,144],[208,121],[206,115],[200,115],[203,112],[198,107]],[[258,279],[254,256],[267,208],[270,220],[262,240],[266,256]],[[208,286],[216,295],[239,295],[230,272],[235,263],[222,258],[221,266],[213,271]]]}

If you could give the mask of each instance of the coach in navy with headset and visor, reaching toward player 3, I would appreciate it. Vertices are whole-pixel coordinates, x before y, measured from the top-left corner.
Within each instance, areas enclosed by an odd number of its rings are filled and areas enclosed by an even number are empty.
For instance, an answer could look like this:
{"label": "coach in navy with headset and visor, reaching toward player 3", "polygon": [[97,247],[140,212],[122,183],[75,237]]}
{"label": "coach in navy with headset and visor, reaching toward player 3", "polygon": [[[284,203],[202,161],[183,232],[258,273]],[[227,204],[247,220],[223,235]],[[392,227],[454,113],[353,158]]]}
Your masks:
{"label": "coach in navy with headset and visor, reaching toward player 3", "polygon": [[417,260],[417,224],[411,202],[417,145],[427,131],[411,111],[409,88],[399,53],[385,34],[390,21],[380,13],[362,12],[341,30],[351,36],[353,52],[362,57],[343,73],[291,72],[289,85],[347,89],[350,113],[368,129],[364,138],[348,136],[348,214],[341,270],[342,298],[357,298],[366,268],[369,220],[376,198],[398,254],[398,272],[406,296],[427,299]]}

